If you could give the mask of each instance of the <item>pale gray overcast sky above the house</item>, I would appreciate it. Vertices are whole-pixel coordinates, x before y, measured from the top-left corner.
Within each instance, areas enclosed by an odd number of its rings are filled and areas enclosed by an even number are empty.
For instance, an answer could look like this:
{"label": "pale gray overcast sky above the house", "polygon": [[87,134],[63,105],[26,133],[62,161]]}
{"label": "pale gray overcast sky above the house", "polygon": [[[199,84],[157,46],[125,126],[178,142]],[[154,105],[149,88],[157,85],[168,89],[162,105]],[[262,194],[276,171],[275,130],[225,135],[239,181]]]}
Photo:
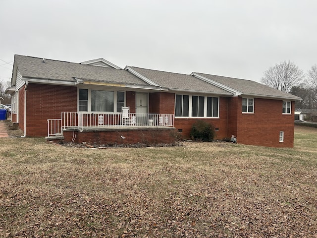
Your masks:
{"label": "pale gray overcast sky above the house", "polygon": [[306,72],[317,63],[316,9],[316,0],[0,0],[0,79],[11,78],[14,54],[258,82],[283,60]]}

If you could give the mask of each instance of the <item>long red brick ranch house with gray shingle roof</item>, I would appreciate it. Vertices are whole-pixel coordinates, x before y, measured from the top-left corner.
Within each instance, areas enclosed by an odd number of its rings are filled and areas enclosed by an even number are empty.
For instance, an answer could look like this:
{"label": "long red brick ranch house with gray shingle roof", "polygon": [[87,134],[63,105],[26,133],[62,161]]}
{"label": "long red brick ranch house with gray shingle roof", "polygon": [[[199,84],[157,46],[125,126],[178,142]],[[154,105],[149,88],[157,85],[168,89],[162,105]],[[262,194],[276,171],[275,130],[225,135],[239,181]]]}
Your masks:
{"label": "long red brick ranch house with gray shingle roof", "polygon": [[202,119],[217,139],[293,147],[294,105],[301,100],[244,79],[21,55],[6,93],[24,136],[91,144],[170,143],[172,131],[189,138]]}

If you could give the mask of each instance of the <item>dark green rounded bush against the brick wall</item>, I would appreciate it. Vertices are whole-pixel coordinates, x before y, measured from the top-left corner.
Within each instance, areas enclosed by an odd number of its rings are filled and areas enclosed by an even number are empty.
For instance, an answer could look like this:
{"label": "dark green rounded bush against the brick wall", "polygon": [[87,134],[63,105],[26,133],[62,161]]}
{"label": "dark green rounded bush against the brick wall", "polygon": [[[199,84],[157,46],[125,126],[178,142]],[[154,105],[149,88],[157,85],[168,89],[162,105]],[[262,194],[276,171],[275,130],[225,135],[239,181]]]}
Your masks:
{"label": "dark green rounded bush against the brick wall", "polygon": [[193,140],[212,141],[215,136],[214,127],[204,120],[197,120],[190,131]]}

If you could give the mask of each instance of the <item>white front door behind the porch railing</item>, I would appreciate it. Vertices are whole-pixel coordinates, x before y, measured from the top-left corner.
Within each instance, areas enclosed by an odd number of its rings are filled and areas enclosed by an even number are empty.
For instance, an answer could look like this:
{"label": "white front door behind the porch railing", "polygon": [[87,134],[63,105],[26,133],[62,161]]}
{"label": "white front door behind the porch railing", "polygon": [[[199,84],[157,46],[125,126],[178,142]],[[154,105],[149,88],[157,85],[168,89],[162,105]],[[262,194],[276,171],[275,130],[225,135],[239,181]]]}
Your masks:
{"label": "white front door behind the porch railing", "polygon": [[147,124],[148,105],[149,105],[149,94],[137,92],[135,94],[137,125]]}

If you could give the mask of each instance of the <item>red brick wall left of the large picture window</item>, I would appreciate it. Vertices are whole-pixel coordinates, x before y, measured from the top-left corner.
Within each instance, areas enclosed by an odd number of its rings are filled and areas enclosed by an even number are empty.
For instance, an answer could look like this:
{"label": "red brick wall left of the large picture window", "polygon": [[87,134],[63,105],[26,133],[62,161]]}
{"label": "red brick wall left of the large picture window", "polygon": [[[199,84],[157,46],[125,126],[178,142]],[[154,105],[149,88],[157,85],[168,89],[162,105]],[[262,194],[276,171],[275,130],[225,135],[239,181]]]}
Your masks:
{"label": "red brick wall left of the large picture window", "polygon": [[26,100],[26,136],[47,136],[47,119],[61,119],[61,112],[77,112],[77,88],[72,86],[29,83]]}

